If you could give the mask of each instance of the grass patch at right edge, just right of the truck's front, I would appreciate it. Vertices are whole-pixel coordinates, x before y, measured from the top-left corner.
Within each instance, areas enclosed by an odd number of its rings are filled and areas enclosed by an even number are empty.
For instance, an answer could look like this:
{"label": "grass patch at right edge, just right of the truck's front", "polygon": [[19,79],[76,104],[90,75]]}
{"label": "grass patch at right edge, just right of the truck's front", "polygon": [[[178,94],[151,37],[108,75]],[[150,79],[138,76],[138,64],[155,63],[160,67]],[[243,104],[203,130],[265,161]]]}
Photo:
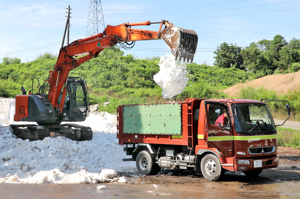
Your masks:
{"label": "grass patch at right edge, just right of the truck's front", "polygon": [[277,127],[278,146],[300,149],[300,130]]}

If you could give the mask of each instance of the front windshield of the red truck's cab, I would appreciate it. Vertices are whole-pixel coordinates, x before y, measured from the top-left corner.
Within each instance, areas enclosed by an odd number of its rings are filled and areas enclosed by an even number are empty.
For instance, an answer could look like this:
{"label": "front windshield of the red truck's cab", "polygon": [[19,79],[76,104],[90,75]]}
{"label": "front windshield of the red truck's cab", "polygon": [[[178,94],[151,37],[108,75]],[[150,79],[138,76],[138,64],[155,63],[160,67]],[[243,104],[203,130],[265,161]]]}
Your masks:
{"label": "front windshield of the red truck's cab", "polygon": [[273,117],[265,104],[232,104],[235,130],[244,135],[276,133]]}

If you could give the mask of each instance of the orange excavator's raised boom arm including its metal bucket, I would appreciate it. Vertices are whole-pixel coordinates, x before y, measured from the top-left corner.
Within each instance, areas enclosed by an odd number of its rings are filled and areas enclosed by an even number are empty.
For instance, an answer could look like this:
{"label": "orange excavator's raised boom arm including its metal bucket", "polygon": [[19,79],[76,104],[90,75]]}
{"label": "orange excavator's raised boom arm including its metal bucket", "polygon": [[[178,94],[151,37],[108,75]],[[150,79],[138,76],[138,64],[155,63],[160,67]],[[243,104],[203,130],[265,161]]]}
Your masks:
{"label": "orange excavator's raised boom arm including its metal bucket", "polygon": [[[48,99],[54,109],[59,109],[62,113],[65,96],[67,92],[67,80],[71,70],[82,63],[97,57],[99,53],[116,44],[128,44],[129,42],[141,40],[163,39],[170,47],[176,59],[183,61],[193,61],[197,48],[198,37],[195,31],[186,30],[173,26],[168,21],[162,20],[158,31],[134,29],[132,26],[149,26],[150,21],[141,23],[123,23],[118,26],[107,26],[103,33],[92,37],[79,39],[60,50],[58,60],[53,70],[50,71],[50,84]],[[162,29],[162,27],[164,28]],[[81,56],[76,59],[77,56]],[[64,88],[63,88],[64,87]],[[61,102],[58,103],[61,90],[63,89]]]}

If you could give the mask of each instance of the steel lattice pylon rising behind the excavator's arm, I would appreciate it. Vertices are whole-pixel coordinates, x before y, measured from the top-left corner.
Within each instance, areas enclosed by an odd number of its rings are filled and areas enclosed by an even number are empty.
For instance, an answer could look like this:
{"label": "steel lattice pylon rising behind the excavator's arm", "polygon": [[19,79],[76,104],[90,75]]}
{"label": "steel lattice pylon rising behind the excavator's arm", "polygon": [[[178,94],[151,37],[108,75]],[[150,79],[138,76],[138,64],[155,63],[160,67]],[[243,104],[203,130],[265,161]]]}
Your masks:
{"label": "steel lattice pylon rising behind the excavator's arm", "polygon": [[90,0],[86,36],[93,36],[105,29],[101,0]]}

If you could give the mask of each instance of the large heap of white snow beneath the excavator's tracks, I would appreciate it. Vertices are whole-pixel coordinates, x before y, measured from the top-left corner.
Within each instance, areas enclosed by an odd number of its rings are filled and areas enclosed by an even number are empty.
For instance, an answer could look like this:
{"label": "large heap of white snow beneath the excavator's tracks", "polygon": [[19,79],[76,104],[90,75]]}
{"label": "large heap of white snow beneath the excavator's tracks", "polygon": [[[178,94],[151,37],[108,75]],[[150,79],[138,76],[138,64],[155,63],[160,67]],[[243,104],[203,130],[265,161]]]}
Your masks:
{"label": "large heap of white snow beneath the excavator's tracks", "polygon": [[[122,162],[123,146],[116,138],[115,116],[90,115],[91,141],[66,137],[28,141],[0,128],[0,183],[97,183],[117,181],[117,172],[136,172],[134,162]],[[124,181],[124,179],[120,179]]]}

